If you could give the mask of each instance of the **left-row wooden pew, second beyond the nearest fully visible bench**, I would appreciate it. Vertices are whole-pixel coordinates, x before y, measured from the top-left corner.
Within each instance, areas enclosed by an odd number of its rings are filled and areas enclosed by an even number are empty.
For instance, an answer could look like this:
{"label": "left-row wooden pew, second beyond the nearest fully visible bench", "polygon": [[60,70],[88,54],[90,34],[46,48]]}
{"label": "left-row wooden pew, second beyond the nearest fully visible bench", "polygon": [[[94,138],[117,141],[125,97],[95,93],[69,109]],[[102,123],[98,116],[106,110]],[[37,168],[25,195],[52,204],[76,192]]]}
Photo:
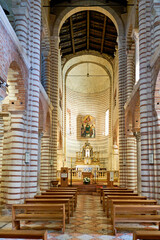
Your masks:
{"label": "left-row wooden pew, second beyond the nearest fully visible bench", "polygon": [[73,195],[35,195],[36,199],[69,199],[70,200],[70,209],[74,212],[75,199]]}

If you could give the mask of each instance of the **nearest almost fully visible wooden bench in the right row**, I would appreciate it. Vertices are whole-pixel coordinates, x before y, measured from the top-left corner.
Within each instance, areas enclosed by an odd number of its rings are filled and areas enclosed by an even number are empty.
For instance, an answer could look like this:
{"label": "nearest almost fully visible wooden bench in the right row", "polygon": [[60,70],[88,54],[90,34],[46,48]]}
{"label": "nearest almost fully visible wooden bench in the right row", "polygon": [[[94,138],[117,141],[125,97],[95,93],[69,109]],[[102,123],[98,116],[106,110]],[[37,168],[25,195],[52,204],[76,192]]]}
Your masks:
{"label": "nearest almost fully visible wooden bench in the right row", "polygon": [[[116,234],[116,223],[158,223],[160,230],[160,215],[156,212],[160,205],[113,205],[112,223]],[[152,215],[153,214],[153,215]]]}

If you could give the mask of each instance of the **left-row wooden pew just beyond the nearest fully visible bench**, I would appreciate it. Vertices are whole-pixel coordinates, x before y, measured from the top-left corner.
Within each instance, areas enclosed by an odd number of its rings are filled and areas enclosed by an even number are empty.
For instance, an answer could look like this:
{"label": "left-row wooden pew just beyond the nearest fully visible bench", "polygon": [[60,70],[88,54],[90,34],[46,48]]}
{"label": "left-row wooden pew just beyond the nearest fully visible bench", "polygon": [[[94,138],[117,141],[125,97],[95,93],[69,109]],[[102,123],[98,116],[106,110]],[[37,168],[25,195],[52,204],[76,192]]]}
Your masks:
{"label": "left-row wooden pew just beyond the nearest fully visible bench", "polygon": [[25,204],[65,204],[65,211],[67,216],[67,223],[69,223],[70,215],[73,216],[73,212],[70,211],[70,200],[69,199],[36,199],[28,198],[25,199]]}

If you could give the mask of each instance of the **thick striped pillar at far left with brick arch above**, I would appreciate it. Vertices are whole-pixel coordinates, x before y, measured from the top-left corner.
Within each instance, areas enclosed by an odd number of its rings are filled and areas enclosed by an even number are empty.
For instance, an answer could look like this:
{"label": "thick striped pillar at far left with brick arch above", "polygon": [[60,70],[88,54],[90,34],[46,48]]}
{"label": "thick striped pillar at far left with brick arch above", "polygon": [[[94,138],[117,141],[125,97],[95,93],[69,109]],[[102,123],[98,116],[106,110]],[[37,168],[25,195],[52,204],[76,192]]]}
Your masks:
{"label": "thick striped pillar at far left with brick arch above", "polygon": [[[7,63],[6,65],[8,69],[6,70],[5,82],[8,84],[8,95],[2,101],[4,135],[1,192],[2,201],[7,204],[23,201],[24,197],[22,179],[25,173],[25,120],[28,101],[28,71],[24,64],[20,64],[20,59],[17,57],[15,59],[17,60],[9,61],[10,64]],[[7,174],[6,162],[8,162]],[[20,173],[19,178],[15,180],[12,176],[17,173]],[[17,192],[12,194],[15,186],[17,189],[19,188],[18,194]]]}

